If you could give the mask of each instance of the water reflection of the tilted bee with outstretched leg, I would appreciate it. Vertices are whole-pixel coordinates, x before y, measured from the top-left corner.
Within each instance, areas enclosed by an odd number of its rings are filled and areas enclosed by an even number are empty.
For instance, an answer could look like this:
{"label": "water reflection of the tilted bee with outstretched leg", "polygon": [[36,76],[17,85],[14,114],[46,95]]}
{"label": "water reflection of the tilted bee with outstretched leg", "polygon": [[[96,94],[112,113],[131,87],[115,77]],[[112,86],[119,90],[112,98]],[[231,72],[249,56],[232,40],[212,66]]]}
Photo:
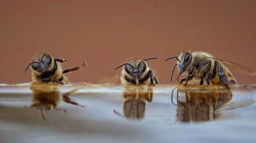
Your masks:
{"label": "water reflection of the tilted bee with outstretched leg", "polygon": [[44,120],[46,120],[46,118],[44,118],[43,111],[59,110],[66,112],[65,109],[57,108],[61,101],[84,107],[72,101],[72,99],[69,97],[79,89],[72,90],[71,92],[64,93],[63,95],[61,95],[59,91],[59,85],[54,84],[32,84],[30,89],[32,90],[32,103],[30,107],[32,109],[40,110]]}

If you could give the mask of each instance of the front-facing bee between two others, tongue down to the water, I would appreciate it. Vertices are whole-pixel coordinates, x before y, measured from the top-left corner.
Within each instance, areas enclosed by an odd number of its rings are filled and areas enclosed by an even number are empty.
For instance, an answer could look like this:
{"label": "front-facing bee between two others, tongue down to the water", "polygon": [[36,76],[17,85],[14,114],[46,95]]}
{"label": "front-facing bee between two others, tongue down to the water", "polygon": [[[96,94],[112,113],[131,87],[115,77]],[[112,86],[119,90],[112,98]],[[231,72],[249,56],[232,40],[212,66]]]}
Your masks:
{"label": "front-facing bee between two others, tongue down to the water", "polygon": [[122,64],[115,68],[117,70],[119,67],[123,67],[121,72],[121,83],[123,85],[127,84],[136,84],[136,85],[156,85],[158,79],[153,76],[152,70],[147,66],[146,60],[158,59],[157,57],[140,59],[140,58],[131,58],[127,60],[127,63]]}

